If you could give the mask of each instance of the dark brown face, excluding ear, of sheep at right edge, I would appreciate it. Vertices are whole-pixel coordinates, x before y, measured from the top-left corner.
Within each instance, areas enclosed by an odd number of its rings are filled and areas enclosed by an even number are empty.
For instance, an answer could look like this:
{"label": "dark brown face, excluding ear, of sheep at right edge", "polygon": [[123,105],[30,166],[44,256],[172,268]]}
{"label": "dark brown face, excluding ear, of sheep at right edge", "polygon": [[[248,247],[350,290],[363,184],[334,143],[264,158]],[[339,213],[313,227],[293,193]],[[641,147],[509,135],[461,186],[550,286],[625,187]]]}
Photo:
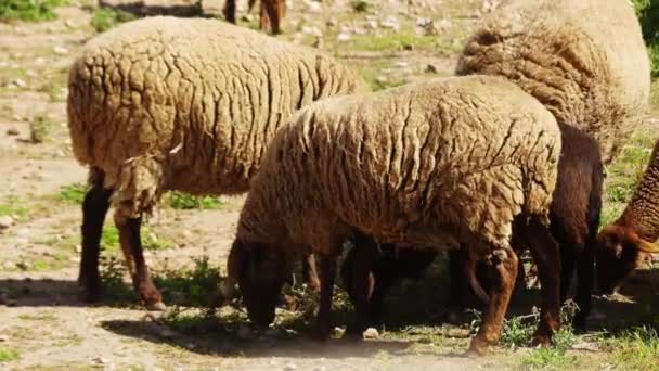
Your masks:
{"label": "dark brown face, excluding ear, of sheep at right edge", "polygon": [[605,294],[618,290],[622,281],[636,269],[644,258],[633,241],[616,233],[599,235],[596,254],[597,285]]}

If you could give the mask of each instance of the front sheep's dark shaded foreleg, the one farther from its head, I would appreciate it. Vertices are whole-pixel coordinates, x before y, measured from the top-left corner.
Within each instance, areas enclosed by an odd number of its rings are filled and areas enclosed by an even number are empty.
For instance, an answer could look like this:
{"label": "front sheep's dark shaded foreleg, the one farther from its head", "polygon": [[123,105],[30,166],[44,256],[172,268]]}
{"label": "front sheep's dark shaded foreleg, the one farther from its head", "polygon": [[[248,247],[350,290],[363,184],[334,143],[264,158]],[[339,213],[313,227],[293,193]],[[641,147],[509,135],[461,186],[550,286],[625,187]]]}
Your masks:
{"label": "front sheep's dark shaded foreleg, the one farther from its head", "polygon": [[370,238],[357,234],[352,251],[352,279],[350,299],[354,305],[354,322],[348,327],[347,334],[361,337],[369,323],[371,297],[373,295],[373,270],[378,256],[377,243]]}

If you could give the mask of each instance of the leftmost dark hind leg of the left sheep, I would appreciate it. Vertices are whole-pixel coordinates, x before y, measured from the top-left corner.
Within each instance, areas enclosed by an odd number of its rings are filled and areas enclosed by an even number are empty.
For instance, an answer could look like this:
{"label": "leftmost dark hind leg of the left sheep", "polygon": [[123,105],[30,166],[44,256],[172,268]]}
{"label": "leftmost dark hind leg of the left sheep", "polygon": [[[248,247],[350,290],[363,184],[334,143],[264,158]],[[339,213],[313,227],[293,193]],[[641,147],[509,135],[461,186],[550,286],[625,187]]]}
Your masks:
{"label": "leftmost dark hind leg of the left sheep", "polygon": [[87,299],[94,302],[101,293],[101,277],[99,274],[99,255],[101,254],[101,236],[103,222],[109,209],[111,189],[103,187],[103,177],[92,180],[92,186],[82,202],[82,256],[78,283],[85,286]]}

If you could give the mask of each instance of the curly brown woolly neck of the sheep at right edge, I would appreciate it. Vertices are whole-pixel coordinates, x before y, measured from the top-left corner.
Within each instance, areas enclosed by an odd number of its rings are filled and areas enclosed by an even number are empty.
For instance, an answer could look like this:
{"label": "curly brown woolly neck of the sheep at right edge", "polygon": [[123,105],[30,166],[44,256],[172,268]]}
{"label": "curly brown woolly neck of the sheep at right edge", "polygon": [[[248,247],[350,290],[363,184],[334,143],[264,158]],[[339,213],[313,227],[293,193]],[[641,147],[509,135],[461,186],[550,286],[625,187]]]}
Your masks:
{"label": "curly brown woolly neck of the sheep at right edge", "polygon": [[617,223],[633,227],[644,240],[654,242],[659,238],[659,141],[632,201]]}

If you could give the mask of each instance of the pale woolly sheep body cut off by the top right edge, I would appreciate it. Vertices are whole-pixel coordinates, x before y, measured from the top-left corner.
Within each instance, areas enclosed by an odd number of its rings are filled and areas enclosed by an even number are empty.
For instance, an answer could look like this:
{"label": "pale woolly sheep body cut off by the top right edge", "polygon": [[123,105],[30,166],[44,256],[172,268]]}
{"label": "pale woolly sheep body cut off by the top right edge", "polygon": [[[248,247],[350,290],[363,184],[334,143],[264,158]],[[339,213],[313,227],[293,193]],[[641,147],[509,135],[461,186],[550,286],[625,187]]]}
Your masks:
{"label": "pale woolly sheep body cut off by the top right edge", "polygon": [[593,136],[605,164],[649,100],[649,59],[628,0],[504,1],[468,39],[455,72],[514,81],[558,123]]}

